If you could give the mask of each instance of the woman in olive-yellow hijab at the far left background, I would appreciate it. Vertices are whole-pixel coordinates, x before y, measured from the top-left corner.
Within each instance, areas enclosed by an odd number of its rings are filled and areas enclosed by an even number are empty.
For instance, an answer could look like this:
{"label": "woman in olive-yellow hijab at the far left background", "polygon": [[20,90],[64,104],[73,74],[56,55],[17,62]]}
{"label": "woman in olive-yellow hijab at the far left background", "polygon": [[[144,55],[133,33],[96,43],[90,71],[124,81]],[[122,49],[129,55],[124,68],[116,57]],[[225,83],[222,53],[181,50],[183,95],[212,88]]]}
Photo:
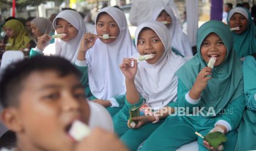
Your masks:
{"label": "woman in olive-yellow hijab at the far left background", "polygon": [[35,43],[28,36],[25,27],[20,21],[16,19],[9,20],[4,24],[3,28],[9,38],[5,50],[24,50],[25,48],[35,47]]}

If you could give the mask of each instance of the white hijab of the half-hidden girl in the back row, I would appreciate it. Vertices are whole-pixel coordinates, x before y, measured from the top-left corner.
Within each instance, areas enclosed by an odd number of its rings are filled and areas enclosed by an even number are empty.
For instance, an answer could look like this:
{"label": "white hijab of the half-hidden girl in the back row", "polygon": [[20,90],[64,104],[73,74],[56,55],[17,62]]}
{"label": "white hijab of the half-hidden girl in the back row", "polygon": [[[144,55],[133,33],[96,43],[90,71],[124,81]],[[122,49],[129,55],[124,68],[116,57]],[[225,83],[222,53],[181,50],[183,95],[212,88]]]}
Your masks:
{"label": "white hijab of the half-hidden girl in the back row", "polygon": [[189,43],[189,39],[187,35],[183,33],[181,25],[177,21],[170,7],[162,5],[161,7],[156,8],[152,15],[152,20],[156,20],[162,10],[165,10],[172,18],[171,25],[167,27],[168,32],[171,34],[172,37],[172,47],[177,49],[179,53],[181,53],[183,56],[193,56],[192,47]]}

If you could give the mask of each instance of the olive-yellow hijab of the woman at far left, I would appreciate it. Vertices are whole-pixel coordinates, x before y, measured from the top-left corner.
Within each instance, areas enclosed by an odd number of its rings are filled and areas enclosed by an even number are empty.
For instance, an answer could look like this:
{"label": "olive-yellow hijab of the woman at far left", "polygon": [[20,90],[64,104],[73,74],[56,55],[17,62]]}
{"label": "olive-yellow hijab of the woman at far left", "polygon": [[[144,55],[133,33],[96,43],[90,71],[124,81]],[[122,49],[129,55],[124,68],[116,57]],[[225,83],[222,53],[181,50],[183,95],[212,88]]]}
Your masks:
{"label": "olive-yellow hijab of the woman at far left", "polygon": [[12,28],[15,34],[14,38],[9,38],[8,43],[10,45],[6,46],[6,50],[20,50],[26,48],[31,38],[28,36],[25,27],[20,21],[16,19],[9,20],[3,27]]}

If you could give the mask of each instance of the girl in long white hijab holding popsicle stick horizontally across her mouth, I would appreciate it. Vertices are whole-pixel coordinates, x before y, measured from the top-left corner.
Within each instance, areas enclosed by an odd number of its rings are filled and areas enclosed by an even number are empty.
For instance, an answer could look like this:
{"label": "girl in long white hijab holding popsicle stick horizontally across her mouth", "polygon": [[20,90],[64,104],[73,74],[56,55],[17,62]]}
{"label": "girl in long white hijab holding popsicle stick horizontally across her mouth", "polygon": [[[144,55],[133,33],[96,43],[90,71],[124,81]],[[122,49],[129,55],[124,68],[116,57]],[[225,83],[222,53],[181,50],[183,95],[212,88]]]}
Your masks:
{"label": "girl in long white hijab holding popsicle stick horizontally across her mouth", "polygon": [[[113,38],[104,39],[104,34]],[[124,57],[135,53],[123,11],[114,7],[101,9],[94,34],[86,33],[82,40],[78,60],[80,70],[85,72],[82,83],[89,83],[85,88],[89,100],[107,107],[112,116],[123,106],[126,93],[119,65]]]}

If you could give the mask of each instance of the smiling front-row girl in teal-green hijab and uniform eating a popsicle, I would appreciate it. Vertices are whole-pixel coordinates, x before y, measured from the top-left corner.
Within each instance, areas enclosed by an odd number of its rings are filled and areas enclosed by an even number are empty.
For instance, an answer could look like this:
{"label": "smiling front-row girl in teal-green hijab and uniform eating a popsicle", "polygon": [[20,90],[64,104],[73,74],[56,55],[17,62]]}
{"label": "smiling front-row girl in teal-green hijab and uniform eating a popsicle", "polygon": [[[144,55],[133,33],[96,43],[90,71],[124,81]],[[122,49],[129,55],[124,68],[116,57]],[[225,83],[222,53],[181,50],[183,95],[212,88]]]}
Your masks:
{"label": "smiling front-row girl in teal-green hijab and uniform eating a popsicle", "polygon": [[[202,25],[197,33],[197,51],[197,55],[176,72],[178,112],[166,118],[141,150],[176,150],[195,140],[199,150],[208,150],[211,149],[209,143],[203,143],[195,132],[205,136],[214,131],[226,135],[225,150],[235,149],[236,128],[243,115],[245,98],[242,63],[233,51],[228,27],[216,20]],[[211,69],[207,64],[213,56],[217,60]]]}

